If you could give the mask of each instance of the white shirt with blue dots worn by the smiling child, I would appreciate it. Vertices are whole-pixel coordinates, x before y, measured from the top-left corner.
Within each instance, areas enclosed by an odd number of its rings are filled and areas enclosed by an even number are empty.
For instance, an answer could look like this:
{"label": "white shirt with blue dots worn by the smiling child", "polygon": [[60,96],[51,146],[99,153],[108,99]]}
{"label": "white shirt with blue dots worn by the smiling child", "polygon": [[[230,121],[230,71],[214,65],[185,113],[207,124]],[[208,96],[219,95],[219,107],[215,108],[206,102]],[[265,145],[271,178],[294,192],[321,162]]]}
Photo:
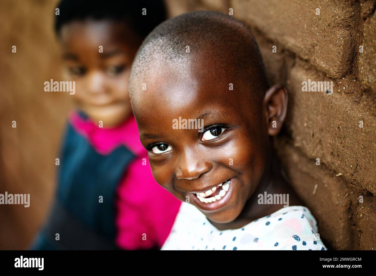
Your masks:
{"label": "white shirt with blue dots worn by the smiling child", "polygon": [[[300,206],[281,208],[242,228],[220,231],[196,207],[186,205],[194,209],[185,213],[185,217],[179,217],[179,210],[162,250],[326,250],[314,235],[317,232],[314,217]],[[224,245],[228,243],[232,244]]]}

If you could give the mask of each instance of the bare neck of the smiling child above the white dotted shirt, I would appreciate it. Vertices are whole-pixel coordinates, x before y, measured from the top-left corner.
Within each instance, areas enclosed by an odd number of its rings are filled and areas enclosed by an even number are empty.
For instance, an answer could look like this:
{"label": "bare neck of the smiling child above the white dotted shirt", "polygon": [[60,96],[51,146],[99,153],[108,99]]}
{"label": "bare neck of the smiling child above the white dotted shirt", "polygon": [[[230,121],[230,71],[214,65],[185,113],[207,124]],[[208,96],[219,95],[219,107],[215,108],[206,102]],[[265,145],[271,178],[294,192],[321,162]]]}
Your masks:
{"label": "bare neck of the smiling child above the white dotted shirt", "polygon": [[284,207],[283,202],[279,202],[279,204],[258,204],[258,195],[264,195],[265,192],[267,195],[288,195],[289,206],[303,205],[302,201],[300,201],[299,197],[296,195],[294,190],[291,189],[290,185],[283,177],[282,169],[274,152],[271,153],[269,160],[270,161],[265,168],[258,187],[246,202],[243,211],[240,213],[237,219],[229,223],[211,222],[212,225],[219,230],[238,229],[255,219],[268,216]]}

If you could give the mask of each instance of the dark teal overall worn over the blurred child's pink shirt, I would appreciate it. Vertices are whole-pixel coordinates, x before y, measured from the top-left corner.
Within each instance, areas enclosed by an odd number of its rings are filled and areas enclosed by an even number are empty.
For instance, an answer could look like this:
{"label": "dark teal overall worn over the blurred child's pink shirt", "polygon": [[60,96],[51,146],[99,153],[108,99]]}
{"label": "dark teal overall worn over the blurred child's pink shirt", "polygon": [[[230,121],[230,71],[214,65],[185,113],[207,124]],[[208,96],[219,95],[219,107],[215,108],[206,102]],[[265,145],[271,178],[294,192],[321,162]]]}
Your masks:
{"label": "dark teal overall worn over the blurred child's pink shirt", "polygon": [[60,158],[55,203],[31,249],[118,249],[115,193],[134,157],[124,146],[109,155],[97,153],[69,124]]}

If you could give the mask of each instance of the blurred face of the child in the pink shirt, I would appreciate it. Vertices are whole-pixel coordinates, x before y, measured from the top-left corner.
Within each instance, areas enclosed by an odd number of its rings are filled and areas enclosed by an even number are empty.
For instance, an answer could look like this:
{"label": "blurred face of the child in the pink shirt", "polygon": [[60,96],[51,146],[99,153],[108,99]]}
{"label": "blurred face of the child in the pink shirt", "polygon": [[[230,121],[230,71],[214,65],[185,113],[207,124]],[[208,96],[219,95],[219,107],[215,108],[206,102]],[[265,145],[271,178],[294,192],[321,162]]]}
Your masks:
{"label": "blurred face of the child in the pink shirt", "polygon": [[132,112],[128,80],[140,39],[125,23],[88,20],[63,26],[61,42],[64,72],[76,82],[80,109],[105,127],[121,124]]}

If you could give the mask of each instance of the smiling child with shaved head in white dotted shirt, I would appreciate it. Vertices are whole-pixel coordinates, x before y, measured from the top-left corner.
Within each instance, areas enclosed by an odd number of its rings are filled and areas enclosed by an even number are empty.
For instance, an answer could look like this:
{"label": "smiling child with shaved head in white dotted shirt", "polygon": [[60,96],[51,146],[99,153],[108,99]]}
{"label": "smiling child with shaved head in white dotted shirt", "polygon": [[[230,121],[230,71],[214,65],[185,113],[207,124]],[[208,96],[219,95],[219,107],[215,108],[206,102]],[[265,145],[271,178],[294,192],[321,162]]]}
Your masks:
{"label": "smiling child with shaved head in white dotted shirt", "polygon": [[[156,181],[184,202],[162,249],[326,249],[274,154],[287,90],[269,86],[241,22],[199,11],[160,24],[135,57],[130,98]],[[180,117],[203,131],[173,127]],[[290,207],[260,204],[265,192]]]}

